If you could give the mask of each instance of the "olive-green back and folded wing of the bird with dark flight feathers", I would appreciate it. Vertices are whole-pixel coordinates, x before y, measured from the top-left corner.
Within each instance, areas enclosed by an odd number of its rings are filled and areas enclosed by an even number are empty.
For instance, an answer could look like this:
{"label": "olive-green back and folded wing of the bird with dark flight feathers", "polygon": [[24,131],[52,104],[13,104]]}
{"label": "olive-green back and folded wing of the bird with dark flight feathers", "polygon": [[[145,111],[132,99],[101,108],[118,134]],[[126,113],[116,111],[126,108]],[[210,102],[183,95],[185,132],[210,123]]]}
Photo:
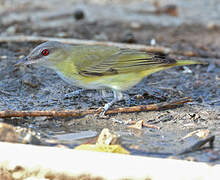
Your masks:
{"label": "olive-green back and folded wing of the bird with dark flight feathers", "polygon": [[[95,49],[95,48],[94,48]],[[174,59],[162,54],[145,53],[136,50],[120,50],[118,48],[96,47],[86,51],[77,66],[78,72],[84,76],[103,76],[120,73],[140,72],[149,68],[170,65]],[[88,49],[87,49],[88,50]]]}

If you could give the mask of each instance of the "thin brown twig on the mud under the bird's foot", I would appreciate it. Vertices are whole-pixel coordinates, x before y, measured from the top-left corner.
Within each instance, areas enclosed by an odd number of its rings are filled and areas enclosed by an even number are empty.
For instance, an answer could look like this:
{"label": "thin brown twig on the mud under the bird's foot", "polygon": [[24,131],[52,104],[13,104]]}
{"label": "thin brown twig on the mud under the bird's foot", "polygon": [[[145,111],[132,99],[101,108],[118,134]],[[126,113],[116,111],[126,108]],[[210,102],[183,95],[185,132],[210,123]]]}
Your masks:
{"label": "thin brown twig on the mud under the bird's foot", "polygon": [[[141,111],[158,111],[162,109],[174,108],[184,103],[192,102],[189,97],[179,99],[173,102],[164,102],[151,105],[140,105],[125,108],[116,108],[108,110],[105,114],[117,114],[117,113],[131,113],[131,112],[141,112]],[[65,110],[65,111],[0,111],[0,117],[26,117],[26,116],[54,116],[54,117],[82,117],[88,114],[99,114],[103,111],[103,108],[96,110]]]}

